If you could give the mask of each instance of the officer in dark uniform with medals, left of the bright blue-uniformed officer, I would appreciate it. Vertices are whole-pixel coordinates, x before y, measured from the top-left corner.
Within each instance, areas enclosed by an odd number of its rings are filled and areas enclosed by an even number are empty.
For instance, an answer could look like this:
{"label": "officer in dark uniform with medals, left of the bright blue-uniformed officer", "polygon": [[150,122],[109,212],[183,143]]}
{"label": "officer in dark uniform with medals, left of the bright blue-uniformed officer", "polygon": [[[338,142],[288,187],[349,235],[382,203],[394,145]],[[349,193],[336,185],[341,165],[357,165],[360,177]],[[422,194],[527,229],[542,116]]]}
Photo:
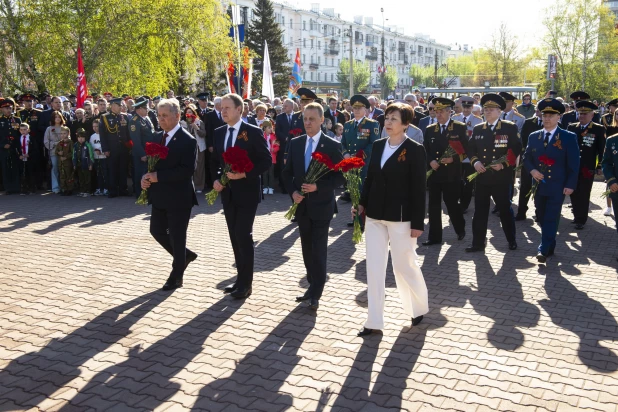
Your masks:
{"label": "officer in dark uniform with medals, left of the bright blue-uniformed officer", "polygon": [[[470,163],[479,173],[475,180],[474,217],[472,218],[472,246],[466,252],[485,250],[487,240],[487,218],[489,217],[490,198],[494,199],[502,230],[509,243],[509,249],[517,249],[515,241],[515,217],[511,208],[511,181],[513,166],[508,161],[490,164],[507,155],[511,150],[515,158],[521,154],[521,141],[517,125],[508,120],[501,120],[500,113],[505,109],[505,100],[495,94],[487,93],[481,98],[481,106],[486,121],[478,124],[472,131],[466,153]],[[489,169],[493,170],[489,170]]]}

